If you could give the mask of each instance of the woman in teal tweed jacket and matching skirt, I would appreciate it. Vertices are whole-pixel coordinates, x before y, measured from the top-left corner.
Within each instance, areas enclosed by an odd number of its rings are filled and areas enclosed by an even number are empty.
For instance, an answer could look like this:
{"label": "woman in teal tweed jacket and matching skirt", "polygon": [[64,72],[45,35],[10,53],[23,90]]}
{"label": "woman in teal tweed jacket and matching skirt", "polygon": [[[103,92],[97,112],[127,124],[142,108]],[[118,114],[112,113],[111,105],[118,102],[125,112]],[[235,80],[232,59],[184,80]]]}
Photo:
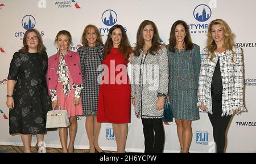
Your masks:
{"label": "woman in teal tweed jacket and matching skirt", "polygon": [[197,88],[200,72],[200,47],[193,44],[188,25],[177,20],[172,25],[168,49],[169,99],[177,125],[180,152],[187,153],[192,141],[192,120],[199,119]]}

